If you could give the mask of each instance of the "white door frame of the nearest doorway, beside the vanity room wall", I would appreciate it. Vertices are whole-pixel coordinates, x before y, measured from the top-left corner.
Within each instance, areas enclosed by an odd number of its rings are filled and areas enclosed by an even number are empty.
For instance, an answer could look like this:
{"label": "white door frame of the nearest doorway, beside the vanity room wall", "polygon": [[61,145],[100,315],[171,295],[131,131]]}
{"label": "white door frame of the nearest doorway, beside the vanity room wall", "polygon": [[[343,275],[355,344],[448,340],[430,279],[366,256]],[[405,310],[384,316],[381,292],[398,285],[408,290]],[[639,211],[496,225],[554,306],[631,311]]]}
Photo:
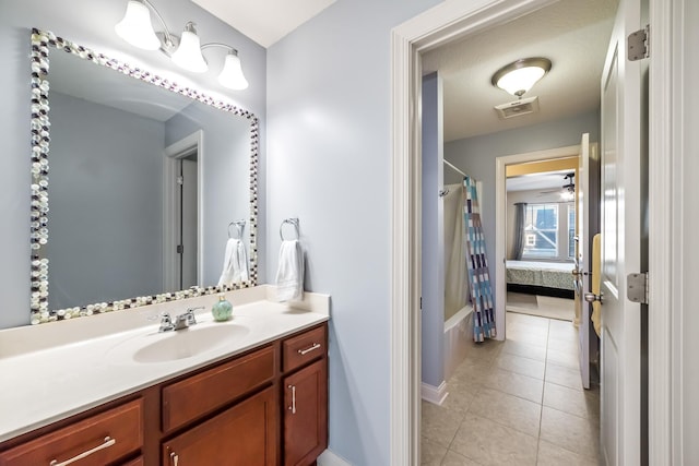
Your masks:
{"label": "white door frame of the nearest doorway, beside the vanity room wall", "polygon": [[[531,13],[556,0],[446,0],[396,26],[391,32],[391,289],[390,289],[390,458],[391,464],[416,465],[420,443],[420,55],[453,39]],[[649,80],[649,264],[654,277],[650,286],[649,325],[649,459],[650,464],[672,464],[682,453],[679,381],[680,343],[676,320],[664,309],[682,316],[682,238],[673,229],[683,228],[673,216],[680,207],[682,186],[673,186],[673,175],[691,156],[690,145],[675,144],[682,132],[682,99],[688,80],[683,81],[682,12],[691,0],[650,0],[653,24],[653,59]],[[673,132],[675,131],[675,132]],[[690,135],[685,135],[689,140]],[[676,164],[676,165],[673,165]],[[679,191],[678,191],[679,190]],[[687,226],[684,226],[687,228]],[[688,232],[688,230],[687,230]],[[684,236],[683,236],[684,237]],[[691,238],[691,236],[686,236]],[[674,241],[671,248],[670,239]],[[688,239],[687,239],[688,240]],[[679,241],[679,244],[678,242]],[[673,304],[675,307],[673,307]],[[655,312],[654,312],[655,311]],[[679,353],[678,353],[679,351]],[[675,355],[675,356],[673,356]],[[674,366],[673,366],[674,365]],[[672,428],[672,430],[671,430]]]}

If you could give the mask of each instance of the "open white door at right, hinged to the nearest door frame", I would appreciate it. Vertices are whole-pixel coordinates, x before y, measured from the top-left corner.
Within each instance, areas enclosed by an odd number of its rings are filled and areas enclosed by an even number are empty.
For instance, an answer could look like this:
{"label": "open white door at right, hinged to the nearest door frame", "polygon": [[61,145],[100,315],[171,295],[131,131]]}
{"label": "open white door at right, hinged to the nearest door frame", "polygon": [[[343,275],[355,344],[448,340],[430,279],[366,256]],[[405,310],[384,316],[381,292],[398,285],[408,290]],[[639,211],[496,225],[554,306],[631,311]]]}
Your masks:
{"label": "open white door at right, hinged to the nearest door frame", "polygon": [[640,28],[640,0],[621,0],[602,73],[601,442],[606,465],[641,464],[640,304],[626,277],[641,258],[641,76],[626,37]]}

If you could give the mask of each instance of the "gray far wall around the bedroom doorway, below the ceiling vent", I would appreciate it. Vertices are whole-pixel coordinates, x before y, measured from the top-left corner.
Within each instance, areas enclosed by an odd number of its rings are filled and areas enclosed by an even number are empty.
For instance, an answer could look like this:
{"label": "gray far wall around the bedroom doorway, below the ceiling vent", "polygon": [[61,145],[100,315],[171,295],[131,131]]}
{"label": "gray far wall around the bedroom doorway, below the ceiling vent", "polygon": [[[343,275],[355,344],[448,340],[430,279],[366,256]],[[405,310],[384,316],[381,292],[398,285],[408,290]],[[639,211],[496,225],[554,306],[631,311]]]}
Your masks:
{"label": "gray far wall around the bedroom doorway, below the ceiling vent", "polygon": [[[483,182],[481,219],[485,232],[485,249],[495,276],[495,159],[503,155],[524,154],[547,148],[580,144],[582,133],[590,133],[590,142],[600,140],[599,110],[561,118],[549,123],[501,131],[482,136],[451,141],[445,144],[445,158],[465,174]],[[495,297],[494,297],[495,298]]]}

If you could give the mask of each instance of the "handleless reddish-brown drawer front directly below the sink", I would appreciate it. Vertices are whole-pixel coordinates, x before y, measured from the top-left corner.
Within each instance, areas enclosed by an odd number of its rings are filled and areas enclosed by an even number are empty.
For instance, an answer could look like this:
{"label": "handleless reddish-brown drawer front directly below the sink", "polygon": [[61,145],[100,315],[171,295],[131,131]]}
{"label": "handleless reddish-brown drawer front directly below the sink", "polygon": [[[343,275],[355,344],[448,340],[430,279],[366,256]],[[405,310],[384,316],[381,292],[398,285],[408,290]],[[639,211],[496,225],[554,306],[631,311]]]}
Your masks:
{"label": "handleless reddish-brown drawer front directly below the sink", "polygon": [[167,385],[163,389],[163,431],[211,413],[273,377],[274,349],[268,346]]}

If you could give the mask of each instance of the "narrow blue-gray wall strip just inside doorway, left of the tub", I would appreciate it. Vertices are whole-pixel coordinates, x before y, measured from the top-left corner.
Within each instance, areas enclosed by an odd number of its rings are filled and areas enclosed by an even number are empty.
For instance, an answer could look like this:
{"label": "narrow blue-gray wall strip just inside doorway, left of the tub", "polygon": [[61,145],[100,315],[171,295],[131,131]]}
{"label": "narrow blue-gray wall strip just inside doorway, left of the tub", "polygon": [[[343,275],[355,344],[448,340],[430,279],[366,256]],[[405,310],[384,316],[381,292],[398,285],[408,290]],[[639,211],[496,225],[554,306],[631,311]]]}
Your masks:
{"label": "narrow blue-gray wall strip just inside doorway, left of the tub", "polygon": [[423,76],[423,382],[445,381],[445,215],[442,83]]}

